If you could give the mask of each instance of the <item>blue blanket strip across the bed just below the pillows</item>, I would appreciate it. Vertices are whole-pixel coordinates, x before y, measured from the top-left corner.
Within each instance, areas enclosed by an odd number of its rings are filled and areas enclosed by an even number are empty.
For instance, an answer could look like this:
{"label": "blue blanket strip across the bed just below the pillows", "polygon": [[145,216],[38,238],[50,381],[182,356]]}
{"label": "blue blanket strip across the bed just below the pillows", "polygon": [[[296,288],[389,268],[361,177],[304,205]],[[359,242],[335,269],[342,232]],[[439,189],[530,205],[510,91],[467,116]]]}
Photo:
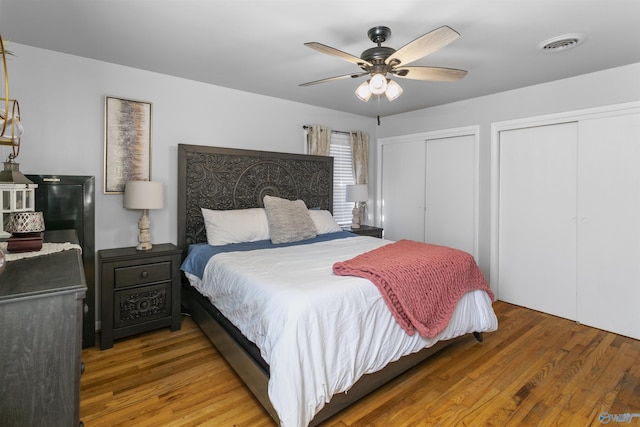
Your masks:
{"label": "blue blanket strip across the bed just below the pillows", "polygon": [[231,243],[224,246],[212,246],[208,243],[196,243],[189,245],[187,257],[180,269],[185,273],[193,274],[202,279],[204,269],[209,262],[209,259],[223,252],[244,252],[253,251],[256,249],[271,249],[271,248],[283,248],[285,246],[298,246],[308,245],[310,243],[327,242],[329,240],[344,239],[345,237],[355,237],[356,234],[348,231],[338,231],[336,233],[320,234],[313,239],[300,240],[298,242],[291,243],[279,243],[273,244],[271,240],[258,240],[257,242],[245,242],[245,243]]}

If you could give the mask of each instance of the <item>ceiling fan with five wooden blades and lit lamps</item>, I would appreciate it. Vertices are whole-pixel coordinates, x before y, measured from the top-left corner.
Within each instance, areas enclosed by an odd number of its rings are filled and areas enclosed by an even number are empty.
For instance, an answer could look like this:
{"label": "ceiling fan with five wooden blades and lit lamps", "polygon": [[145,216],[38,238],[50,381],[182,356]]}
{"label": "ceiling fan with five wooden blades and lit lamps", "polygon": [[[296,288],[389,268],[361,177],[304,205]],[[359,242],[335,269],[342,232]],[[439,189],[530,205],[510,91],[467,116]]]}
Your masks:
{"label": "ceiling fan with five wooden blades and lit lamps", "polygon": [[348,78],[355,79],[370,75],[370,79],[358,86],[355,91],[356,96],[362,101],[367,102],[369,98],[371,98],[372,94],[382,95],[384,93],[389,101],[393,101],[402,94],[403,90],[398,83],[389,79],[387,74],[405,79],[439,82],[458,81],[467,74],[465,70],[457,70],[455,68],[422,66],[407,67],[408,64],[445,47],[460,37],[460,34],[458,34],[457,31],[446,25],[418,37],[398,50],[382,46],[382,43],[391,36],[391,29],[389,29],[389,27],[373,27],[367,32],[367,35],[369,36],[369,39],[378,46],[365,50],[362,52],[360,57],[348,54],[322,43],[305,43],[305,46],[309,46],[319,52],[337,56],[338,58],[344,59],[352,64],[356,64],[362,68],[364,72],[315,80],[312,82],[302,83],[300,86],[311,86],[318,83],[326,83]]}

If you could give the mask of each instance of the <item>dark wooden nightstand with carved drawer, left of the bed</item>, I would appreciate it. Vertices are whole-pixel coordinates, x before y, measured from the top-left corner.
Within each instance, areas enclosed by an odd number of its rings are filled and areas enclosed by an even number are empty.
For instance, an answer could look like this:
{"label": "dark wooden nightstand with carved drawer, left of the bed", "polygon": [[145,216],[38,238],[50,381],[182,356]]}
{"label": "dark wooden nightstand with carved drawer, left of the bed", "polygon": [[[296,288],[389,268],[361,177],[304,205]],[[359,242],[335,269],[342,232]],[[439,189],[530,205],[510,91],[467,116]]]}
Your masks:
{"label": "dark wooden nightstand with carved drawer, left of the bed", "polygon": [[98,251],[102,296],[100,348],[113,340],[171,326],[180,329],[180,260],[170,243]]}

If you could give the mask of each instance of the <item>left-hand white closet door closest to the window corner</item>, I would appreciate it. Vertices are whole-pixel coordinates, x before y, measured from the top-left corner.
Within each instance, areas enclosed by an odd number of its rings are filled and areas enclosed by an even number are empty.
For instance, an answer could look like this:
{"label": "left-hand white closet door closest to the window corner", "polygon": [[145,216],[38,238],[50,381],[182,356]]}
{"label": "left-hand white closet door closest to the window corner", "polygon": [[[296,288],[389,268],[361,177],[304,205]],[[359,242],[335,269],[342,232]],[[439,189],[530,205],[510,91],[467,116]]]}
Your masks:
{"label": "left-hand white closet door closest to the window corner", "polygon": [[389,240],[424,241],[424,140],[382,148],[382,226]]}

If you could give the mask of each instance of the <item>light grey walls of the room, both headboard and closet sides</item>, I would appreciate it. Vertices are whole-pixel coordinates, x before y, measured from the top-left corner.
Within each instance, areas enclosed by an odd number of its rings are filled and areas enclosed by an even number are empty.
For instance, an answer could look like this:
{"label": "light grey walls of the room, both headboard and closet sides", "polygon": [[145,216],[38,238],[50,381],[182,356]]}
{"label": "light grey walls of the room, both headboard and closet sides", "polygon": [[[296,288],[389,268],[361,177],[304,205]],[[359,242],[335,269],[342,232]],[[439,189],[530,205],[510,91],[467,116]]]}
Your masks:
{"label": "light grey walls of the room, both headboard and closet sides", "polygon": [[[640,100],[640,64],[531,86],[375,120],[212,86],[115,64],[13,44],[10,95],[25,126],[17,161],[27,174],[96,177],[96,249],[137,243],[137,211],[121,195],[103,194],[104,97],[153,104],[152,179],[165,184],[165,208],[151,211],[154,243],[177,239],[177,144],[303,152],[302,125],[360,129],[389,137],[480,126],[479,263],[490,264],[490,127],[492,122]],[[215,72],[212,70],[211,72]],[[0,148],[4,161],[9,149]],[[375,158],[370,158],[375,165]],[[369,182],[376,182],[370,166]],[[373,193],[373,192],[372,192]],[[371,204],[372,206],[375,204]]]}

